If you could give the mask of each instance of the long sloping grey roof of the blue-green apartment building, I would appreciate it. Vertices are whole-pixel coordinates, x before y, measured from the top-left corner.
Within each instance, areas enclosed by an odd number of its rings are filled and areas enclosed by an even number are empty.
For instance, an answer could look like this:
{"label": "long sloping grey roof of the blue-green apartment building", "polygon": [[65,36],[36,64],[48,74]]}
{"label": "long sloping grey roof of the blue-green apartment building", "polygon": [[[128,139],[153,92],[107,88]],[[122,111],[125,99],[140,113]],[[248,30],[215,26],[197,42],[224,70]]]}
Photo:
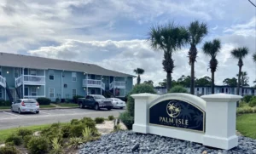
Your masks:
{"label": "long sloping grey roof of the blue-green apartment building", "polygon": [[87,72],[89,74],[113,77],[135,77],[119,71],[108,70],[95,64],[1,52],[0,66],[24,67],[42,70],[54,69],[64,71],[80,71]]}

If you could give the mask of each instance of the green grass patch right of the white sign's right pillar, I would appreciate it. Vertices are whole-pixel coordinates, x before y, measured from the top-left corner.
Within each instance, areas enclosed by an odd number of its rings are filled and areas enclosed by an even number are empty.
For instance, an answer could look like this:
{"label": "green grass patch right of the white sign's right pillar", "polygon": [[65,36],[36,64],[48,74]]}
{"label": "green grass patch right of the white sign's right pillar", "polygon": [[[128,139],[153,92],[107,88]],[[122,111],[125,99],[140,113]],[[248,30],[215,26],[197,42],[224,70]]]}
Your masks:
{"label": "green grass patch right of the white sign's right pillar", "polygon": [[256,113],[237,116],[236,129],[244,136],[256,139]]}

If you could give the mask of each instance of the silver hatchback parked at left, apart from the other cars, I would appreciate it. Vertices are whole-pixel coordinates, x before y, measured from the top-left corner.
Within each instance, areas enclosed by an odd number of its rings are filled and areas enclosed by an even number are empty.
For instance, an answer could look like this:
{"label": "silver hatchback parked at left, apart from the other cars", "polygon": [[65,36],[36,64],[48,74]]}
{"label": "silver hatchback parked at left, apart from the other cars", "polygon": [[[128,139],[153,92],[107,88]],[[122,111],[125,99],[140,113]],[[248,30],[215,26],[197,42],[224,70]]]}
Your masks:
{"label": "silver hatchback parked at left, apart from the other cars", "polygon": [[12,103],[11,111],[18,112],[34,112],[39,113],[39,103],[34,99],[18,99]]}

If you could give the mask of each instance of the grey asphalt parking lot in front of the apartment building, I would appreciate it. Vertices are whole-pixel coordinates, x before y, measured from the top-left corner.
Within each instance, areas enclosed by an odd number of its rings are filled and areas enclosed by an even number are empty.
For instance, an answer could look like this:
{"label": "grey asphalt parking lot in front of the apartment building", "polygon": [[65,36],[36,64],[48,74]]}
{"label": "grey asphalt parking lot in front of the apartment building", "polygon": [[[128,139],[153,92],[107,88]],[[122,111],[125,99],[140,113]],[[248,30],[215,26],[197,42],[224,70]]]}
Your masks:
{"label": "grey asphalt parking lot in front of the apartment building", "polygon": [[55,110],[41,110],[39,114],[25,113],[18,114],[11,111],[0,111],[0,129],[17,128],[23,126],[41,125],[49,123],[67,123],[72,119],[79,119],[82,117],[108,117],[113,115],[118,117],[120,112],[125,110],[113,109],[107,111],[94,111],[90,109],[55,109]]}

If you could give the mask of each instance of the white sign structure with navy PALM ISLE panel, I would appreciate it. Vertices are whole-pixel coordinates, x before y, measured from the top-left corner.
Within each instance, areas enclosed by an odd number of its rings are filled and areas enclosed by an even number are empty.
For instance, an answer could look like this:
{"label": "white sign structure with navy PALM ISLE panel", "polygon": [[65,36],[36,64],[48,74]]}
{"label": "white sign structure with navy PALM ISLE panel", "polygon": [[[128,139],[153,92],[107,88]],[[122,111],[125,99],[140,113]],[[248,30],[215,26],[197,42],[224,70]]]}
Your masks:
{"label": "white sign structure with navy PALM ISLE panel", "polygon": [[229,150],[238,145],[233,94],[132,94],[134,132],[158,134]]}

